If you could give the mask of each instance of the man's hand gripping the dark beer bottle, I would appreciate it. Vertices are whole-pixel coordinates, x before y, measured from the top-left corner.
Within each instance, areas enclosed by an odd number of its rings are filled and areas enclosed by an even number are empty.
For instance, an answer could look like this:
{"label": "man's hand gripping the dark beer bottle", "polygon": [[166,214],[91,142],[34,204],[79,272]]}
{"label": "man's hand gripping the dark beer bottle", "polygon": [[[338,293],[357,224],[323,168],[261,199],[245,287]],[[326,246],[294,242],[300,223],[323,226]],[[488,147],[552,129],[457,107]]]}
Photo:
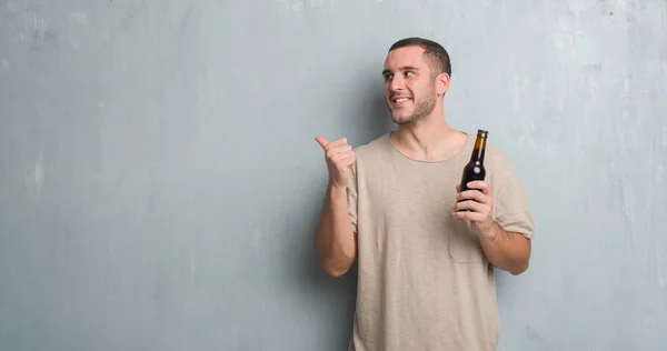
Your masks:
{"label": "man's hand gripping the dark beer bottle", "polygon": [[[468,183],[468,190],[461,192],[460,184],[456,185],[456,200],[454,217],[470,221],[472,231],[480,237],[488,237],[494,232],[494,198],[489,183],[482,180]],[[470,211],[461,211],[470,210]]]}

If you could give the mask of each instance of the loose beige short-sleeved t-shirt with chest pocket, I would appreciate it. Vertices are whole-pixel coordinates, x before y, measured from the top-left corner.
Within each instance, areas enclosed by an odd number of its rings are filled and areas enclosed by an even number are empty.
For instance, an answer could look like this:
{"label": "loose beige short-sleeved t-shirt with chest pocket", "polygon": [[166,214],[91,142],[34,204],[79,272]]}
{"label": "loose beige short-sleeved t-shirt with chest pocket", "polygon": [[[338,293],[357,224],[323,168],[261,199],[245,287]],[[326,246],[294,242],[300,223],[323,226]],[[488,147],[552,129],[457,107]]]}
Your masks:
{"label": "loose beige short-sleeved t-shirt with chest pocket", "polygon": [[[451,214],[475,136],[437,162],[401,154],[388,136],[356,149],[348,185],[359,245],[350,350],[496,350],[492,267],[470,225]],[[487,144],[485,167],[495,220],[531,238],[532,218],[512,166]]]}

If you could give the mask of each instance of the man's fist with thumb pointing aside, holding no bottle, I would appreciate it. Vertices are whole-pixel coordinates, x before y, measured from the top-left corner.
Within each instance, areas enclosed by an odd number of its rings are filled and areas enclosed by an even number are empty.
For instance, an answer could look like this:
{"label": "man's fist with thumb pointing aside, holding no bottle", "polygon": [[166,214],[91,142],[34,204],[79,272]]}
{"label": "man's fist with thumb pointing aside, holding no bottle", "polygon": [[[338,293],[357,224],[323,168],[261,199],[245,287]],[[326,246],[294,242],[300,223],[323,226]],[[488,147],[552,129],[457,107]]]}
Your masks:
{"label": "man's fist with thumb pointing aside, holding no bottle", "polygon": [[329,183],[332,187],[345,188],[348,183],[349,169],[357,160],[352,147],[347,143],[346,138],[340,138],[331,142],[322,137],[315,140],[325,150],[327,168],[329,169]]}

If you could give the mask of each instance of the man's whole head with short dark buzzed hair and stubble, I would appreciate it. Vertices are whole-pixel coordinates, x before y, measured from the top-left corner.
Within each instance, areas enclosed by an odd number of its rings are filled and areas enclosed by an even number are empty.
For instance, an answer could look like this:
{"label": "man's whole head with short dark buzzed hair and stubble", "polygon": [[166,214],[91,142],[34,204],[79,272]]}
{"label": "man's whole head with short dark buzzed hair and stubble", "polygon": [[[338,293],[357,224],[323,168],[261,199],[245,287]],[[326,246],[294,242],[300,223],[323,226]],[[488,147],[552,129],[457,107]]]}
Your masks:
{"label": "man's whole head with short dark buzzed hair and stubble", "polygon": [[422,38],[406,38],[389,48],[382,77],[385,97],[397,124],[415,123],[430,114],[449,88],[447,50]]}

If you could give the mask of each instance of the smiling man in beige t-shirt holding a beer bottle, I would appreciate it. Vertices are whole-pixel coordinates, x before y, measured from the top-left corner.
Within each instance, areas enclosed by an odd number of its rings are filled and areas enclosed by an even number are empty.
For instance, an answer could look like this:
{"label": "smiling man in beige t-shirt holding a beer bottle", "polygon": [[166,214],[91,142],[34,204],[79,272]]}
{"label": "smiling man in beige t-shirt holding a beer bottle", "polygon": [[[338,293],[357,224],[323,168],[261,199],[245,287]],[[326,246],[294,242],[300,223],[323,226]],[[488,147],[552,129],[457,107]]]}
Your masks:
{"label": "smiling man in beige t-shirt holding a beer bottle", "polygon": [[488,146],[485,181],[459,192],[475,134],[444,118],[450,76],[441,46],[400,40],[382,71],[397,129],[356,150],[316,138],[329,170],[318,253],[334,277],[358,259],[350,350],[496,350],[494,268],[528,268],[534,222],[501,151]]}

